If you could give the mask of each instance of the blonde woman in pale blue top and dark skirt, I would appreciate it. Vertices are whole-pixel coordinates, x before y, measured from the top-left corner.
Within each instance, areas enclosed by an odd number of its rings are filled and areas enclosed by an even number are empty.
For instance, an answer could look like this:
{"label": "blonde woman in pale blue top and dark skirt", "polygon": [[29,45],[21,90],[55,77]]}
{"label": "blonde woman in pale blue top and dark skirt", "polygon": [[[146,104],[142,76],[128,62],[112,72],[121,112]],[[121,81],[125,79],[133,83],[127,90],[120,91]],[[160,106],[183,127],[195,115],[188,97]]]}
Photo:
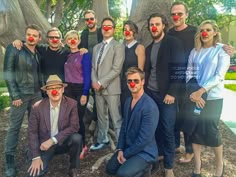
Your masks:
{"label": "blonde woman in pale blue top and dark skirt", "polygon": [[[223,146],[219,133],[219,120],[223,105],[224,76],[230,65],[230,56],[220,42],[219,28],[215,21],[200,24],[195,36],[195,48],[191,51],[186,82],[196,78],[200,88],[189,99],[201,108],[197,125],[192,134],[195,167],[193,177],[201,176],[201,147],[210,146],[215,153],[214,177],[223,176]],[[202,98],[207,93],[207,98]]]}

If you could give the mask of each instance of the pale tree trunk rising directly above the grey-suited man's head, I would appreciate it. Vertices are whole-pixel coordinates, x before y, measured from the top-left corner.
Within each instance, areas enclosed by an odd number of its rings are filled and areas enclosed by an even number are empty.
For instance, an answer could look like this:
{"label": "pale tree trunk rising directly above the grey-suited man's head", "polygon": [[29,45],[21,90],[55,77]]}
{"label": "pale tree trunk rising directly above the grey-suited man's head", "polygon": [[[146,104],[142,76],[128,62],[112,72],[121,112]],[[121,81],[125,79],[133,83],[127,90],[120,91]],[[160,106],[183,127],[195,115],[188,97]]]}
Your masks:
{"label": "pale tree trunk rising directly above the grey-suited man's head", "polygon": [[109,16],[108,0],[93,0],[93,10],[100,25],[102,19]]}

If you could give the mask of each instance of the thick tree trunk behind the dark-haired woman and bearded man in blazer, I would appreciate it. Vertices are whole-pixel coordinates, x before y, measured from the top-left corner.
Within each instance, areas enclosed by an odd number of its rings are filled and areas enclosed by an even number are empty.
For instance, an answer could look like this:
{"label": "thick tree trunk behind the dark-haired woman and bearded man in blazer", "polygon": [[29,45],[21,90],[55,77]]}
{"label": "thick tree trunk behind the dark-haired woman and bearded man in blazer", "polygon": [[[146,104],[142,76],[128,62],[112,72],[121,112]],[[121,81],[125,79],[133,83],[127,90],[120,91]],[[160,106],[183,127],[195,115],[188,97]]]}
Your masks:
{"label": "thick tree trunk behind the dark-haired woman and bearded man in blazer", "polygon": [[151,41],[148,31],[147,19],[153,13],[166,15],[170,22],[170,6],[173,0],[133,0],[129,19],[134,21],[139,28],[138,40],[147,46]]}

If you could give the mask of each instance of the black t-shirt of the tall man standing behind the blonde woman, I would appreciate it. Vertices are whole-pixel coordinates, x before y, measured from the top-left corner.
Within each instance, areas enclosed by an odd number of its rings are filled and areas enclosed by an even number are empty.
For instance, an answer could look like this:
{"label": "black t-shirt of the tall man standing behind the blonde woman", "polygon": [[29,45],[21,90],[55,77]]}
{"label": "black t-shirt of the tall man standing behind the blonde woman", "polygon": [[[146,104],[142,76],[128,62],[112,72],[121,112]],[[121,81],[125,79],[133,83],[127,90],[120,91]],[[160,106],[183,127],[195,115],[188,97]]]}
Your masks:
{"label": "black t-shirt of the tall man standing behind the blonde woman", "polygon": [[185,66],[187,66],[190,52],[194,48],[194,36],[196,32],[197,27],[188,25],[187,28],[181,31],[176,31],[174,28],[171,28],[168,33],[170,36],[174,36],[180,39],[183,43],[185,55],[185,60],[183,61],[183,63],[185,64]]}

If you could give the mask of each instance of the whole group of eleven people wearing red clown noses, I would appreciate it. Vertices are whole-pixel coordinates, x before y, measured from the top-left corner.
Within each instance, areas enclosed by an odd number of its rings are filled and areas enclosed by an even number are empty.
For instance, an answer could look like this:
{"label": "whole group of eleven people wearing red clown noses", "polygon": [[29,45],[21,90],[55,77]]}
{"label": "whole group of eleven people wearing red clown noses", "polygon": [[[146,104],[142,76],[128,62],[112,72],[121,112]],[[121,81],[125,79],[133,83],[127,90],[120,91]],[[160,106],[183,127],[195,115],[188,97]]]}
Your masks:
{"label": "whole group of eleven people wearing red clown noses", "polygon": [[114,20],[106,17],[98,28],[92,10],[84,14],[87,28],[81,37],[76,30],[66,33],[67,47],[61,45],[62,34],[55,27],[47,32],[48,44],[38,44],[40,28],[29,25],[25,41],[10,44],[4,59],[12,99],[5,176],[16,176],[14,158],[27,110],[28,176],[44,175],[52,157],[65,152],[70,155],[68,175],[76,176],[80,154],[87,149],[83,117],[90,94],[95,102],[92,123],[98,130],[90,150],[109,145],[109,127],[117,138],[108,174],[150,176],[163,160],[165,177],[173,177],[183,131],[186,152],[179,163],[194,157],[191,175],[200,177],[201,146],[210,146],[216,156],[214,175],[223,176],[218,125],[224,75],[234,48],[220,43],[214,21],[198,27],[186,24],[185,3],[174,2],[170,14],[171,29],[164,15],[150,15],[147,24],[153,41],[146,48],[136,40],[134,22],[124,22],[120,43],[113,37]]}

